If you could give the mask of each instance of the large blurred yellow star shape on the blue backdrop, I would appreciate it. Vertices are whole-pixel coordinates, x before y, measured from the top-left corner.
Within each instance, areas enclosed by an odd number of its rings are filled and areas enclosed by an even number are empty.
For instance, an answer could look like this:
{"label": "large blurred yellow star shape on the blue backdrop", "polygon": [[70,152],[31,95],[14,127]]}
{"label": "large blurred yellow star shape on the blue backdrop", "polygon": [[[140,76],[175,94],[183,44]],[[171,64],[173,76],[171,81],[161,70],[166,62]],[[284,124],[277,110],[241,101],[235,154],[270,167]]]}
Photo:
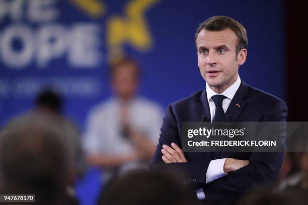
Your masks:
{"label": "large blurred yellow star shape on the blue backdrop", "polygon": [[123,15],[112,15],[107,21],[108,59],[114,61],[124,55],[128,43],[141,52],[148,51],[153,43],[145,19],[145,12],[158,0],[131,0]]}

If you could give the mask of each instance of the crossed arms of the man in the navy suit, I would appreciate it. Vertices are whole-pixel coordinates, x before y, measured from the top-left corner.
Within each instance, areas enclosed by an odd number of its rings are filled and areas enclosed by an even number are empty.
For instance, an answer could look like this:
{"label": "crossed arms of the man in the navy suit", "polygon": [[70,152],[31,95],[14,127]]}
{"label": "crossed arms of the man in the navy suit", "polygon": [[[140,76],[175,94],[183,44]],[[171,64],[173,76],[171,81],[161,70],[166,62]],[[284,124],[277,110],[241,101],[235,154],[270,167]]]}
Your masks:
{"label": "crossed arms of the man in the navy suit", "polygon": [[[284,102],[276,101],[272,108],[264,116],[263,121],[285,121],[287,108]],[[282,152],[252,152],[249,159],[226,158],[223,171],[227,175],[206,183],[206,172],[211,158],[199,157],[196,160],[191,158],[190,153],[184,153],[181,150],[179,139],[181,128],[178,128],[179,119],[175,116],[173,107],[170,105],[164,118],[157,150],[150,164],[151,170],[185,172],[183,182],[203,187],[208,199],[217,198],[221,193],[240,194],[254,184],[273,182],[278,176],[283,161]],[[178,163],[174,163],[176,161]]]}

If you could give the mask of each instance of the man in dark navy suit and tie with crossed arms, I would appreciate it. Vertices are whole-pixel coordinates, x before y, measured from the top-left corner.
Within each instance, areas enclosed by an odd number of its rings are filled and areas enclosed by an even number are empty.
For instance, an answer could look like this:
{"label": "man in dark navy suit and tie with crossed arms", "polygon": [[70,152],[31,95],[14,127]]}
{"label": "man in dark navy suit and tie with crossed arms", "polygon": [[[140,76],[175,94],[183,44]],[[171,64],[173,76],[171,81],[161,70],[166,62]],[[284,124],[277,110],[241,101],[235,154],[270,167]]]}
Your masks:
{"label": "man in dark navy suit and tie with crossed arms", "polygon": [[195,35],[206,88],[168,106],[152,170],[183,171],[200,200],[234,203],[252,186],[277,178],[282,152],[183,152],[182,122],[284,122],[283,100],[247,85],[238,74],[247,56],[245,28],[229,17],[212,17]]}

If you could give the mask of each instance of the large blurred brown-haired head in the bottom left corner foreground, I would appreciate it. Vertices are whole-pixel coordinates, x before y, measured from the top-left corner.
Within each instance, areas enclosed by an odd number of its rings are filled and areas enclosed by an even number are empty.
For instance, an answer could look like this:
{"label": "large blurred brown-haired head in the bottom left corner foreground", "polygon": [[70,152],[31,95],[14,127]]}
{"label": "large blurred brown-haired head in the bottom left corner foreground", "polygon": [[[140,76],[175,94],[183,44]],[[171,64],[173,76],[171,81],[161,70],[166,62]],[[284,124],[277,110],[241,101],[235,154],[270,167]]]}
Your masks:
{"label": "large blurred brown-haired head in the bottom left corner foreground", "polygon": [[5,129],[0,135],[3,191],[35,194],[37,204],[54,204],[65,196],[66,151],[59,136],[36,126]]}

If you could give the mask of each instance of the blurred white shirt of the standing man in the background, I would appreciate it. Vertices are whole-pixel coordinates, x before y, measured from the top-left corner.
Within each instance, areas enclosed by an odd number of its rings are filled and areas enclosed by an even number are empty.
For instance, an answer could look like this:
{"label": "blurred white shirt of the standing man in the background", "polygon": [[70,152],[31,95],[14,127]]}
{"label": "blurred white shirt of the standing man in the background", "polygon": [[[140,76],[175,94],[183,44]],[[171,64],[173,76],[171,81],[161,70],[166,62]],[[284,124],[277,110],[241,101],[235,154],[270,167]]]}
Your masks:
{"label": "blurred white shirt of the standing man in the background", "polygon": [[[127,115],[130,126],[145,133],[145,137],[155,146],[160,136],[163,110],[151,100],[135,97],[127,102]],[[88,155],[127,156],[136,147],[121,135],[122,117],[120,100],[112,97],[91,110],[83,138],[83,145]],[[148,162],[130,161],[122,164],[118,172],[125,173],[131,169],[148,167]],[[114,169],[104,170],[107,181]]]}

